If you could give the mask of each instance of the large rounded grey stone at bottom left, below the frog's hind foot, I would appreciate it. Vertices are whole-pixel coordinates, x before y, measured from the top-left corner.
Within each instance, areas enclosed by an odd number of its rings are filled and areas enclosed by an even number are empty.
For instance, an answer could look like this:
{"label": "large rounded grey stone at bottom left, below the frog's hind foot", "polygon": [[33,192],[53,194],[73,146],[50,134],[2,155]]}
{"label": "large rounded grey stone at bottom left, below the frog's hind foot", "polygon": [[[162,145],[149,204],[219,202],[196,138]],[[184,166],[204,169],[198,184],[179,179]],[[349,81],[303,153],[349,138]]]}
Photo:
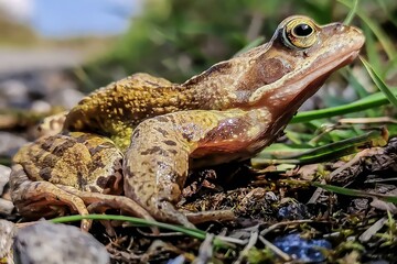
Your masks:
{"label": "large rounded grey stone at bottom left, below the frog's hind foot", "polygon": [[14,262],[35,263],[110,263],[105,246],[78,228],[39,222],[21,229],[13,244]]}

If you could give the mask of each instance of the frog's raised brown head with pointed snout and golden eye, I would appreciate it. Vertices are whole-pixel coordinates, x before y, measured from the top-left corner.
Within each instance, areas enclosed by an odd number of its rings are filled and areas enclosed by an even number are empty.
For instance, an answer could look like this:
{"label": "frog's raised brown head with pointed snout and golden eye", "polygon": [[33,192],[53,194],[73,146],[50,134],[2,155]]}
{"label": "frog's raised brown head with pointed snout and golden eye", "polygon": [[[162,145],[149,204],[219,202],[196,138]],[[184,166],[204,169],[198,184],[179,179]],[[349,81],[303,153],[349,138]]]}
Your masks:
{"label": "frog's raised brown head with pointed snout and golden eye", "polygon": [[308,16],[290,16],[269,43],[246,53],[250,67],[236,86],[237,101],[266,107],[273,117],[293,114],[330,74],[356,58],[364,41],[354,26],[320,26]]}

